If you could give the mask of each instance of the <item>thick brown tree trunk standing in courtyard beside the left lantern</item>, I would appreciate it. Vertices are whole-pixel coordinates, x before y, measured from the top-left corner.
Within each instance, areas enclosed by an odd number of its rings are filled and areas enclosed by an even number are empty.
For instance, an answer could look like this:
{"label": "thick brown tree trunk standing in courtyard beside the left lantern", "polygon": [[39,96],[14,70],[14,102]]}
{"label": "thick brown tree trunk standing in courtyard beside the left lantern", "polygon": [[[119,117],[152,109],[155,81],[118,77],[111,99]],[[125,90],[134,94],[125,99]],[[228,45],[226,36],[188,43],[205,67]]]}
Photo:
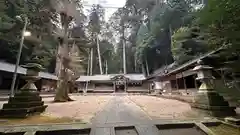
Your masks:
{"label": "thick brown tree trunk standing in courtyard beside the left lantern", "polygon": [[[67,18],[67,17],[66,17]],[[56,95],[54,98],[54,102],[67,102],[72,101],[72,99],[68,96],[69,92],[69,47],[68,47],[68,23],[65,21],[64,23],[64,38],[63,38],[63,49],[61,53],[61,69],[60,69],[60,77],[59,77],[59,85],[57,87]]]}

